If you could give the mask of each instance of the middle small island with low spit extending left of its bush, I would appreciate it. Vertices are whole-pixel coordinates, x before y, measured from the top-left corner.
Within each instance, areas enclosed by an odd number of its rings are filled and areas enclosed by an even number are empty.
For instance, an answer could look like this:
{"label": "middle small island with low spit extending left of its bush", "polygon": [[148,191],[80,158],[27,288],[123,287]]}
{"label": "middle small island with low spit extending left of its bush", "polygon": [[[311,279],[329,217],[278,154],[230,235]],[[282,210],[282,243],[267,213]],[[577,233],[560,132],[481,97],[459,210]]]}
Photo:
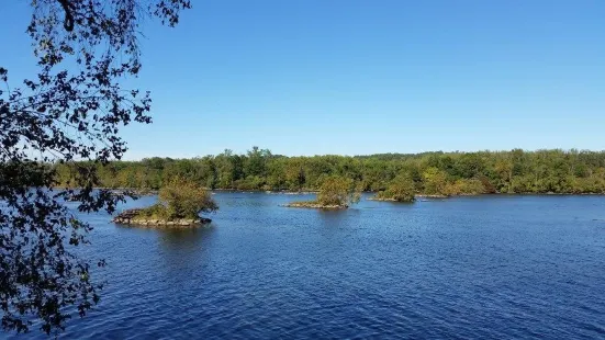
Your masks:
{"label": "middle small island with low spit extending left of its bush", "polygon": [[358,203],[361,190],[355,185],[351,179],[329,175],[322,181],[317,200],[291,202],[287,207],[306,207],[318,209],[345,209],[351,204]]}

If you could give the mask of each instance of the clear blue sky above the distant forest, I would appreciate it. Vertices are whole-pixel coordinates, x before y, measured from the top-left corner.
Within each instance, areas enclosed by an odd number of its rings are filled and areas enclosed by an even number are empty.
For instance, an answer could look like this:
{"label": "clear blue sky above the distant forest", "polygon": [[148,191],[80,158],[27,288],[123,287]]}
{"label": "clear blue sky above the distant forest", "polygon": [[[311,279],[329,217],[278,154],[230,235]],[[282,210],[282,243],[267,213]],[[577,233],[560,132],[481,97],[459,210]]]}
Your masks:
{"label": "clear blue sky above the distant forest", "polygon": [[[0,3],[11,79],[36,71],[27,2]],[[126,159],[605,149],[603,0],[192,2],[143,25]]]}

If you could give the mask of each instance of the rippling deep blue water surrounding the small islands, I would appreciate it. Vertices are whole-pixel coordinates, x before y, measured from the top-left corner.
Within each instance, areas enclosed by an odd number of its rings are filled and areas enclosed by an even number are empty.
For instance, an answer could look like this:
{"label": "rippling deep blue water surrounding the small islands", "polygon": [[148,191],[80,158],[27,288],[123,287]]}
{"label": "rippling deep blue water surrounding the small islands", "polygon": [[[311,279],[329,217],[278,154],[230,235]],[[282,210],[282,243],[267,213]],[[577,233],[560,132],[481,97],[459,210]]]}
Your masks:
{"label": "rippling deep blue water surrounding the small islands", "polygon": [[221,211],[199,229],[87,216],[109,284],[63,338],[605,338],[604,196],[339,212],[279,206],[305,199],[293,195],[214,197]]}

